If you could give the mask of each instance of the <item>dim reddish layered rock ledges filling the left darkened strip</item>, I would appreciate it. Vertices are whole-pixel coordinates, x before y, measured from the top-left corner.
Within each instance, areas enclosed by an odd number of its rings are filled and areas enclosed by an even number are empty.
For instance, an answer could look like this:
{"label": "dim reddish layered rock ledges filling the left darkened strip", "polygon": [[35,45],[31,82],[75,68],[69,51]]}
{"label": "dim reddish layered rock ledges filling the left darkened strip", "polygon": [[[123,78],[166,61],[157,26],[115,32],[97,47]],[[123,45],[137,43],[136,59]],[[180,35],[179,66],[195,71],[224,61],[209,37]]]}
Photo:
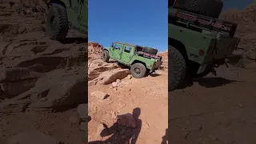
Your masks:
{"label": "dim reddish layered rock ledges filling the left darkened strip", "polygon": [[0,143],[86,143],[87,38],[46,35],[42,1],[0,2]]}

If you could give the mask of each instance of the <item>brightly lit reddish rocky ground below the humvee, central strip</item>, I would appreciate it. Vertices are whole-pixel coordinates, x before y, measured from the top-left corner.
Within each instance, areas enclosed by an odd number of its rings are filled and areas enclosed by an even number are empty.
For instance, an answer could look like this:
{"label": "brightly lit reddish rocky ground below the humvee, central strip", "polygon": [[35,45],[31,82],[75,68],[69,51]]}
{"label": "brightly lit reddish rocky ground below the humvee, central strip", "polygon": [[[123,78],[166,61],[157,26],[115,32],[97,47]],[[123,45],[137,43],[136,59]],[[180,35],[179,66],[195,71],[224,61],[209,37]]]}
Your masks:
{"label": "brightly lit reddish rocky ground below the humvee, central strip", "polygon": [[167,70],[132,78],[128,68],[102,62],[93,49],[89,46],[89,142],[161,143],[168,127]]}

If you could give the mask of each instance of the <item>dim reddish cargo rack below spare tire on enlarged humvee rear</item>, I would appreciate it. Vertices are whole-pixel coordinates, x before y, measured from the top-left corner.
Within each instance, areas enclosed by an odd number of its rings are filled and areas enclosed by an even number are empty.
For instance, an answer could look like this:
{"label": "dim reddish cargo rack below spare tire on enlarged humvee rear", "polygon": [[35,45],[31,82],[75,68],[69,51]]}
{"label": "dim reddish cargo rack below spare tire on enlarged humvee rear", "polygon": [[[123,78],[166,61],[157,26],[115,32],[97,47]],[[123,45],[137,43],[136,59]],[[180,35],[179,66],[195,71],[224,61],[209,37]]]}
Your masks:
{"label": "dim reddish cargo rack below spare tire on enlarged humvee rear", "polygon": [[183,26],[192,30],[215,30],[218,32],[229,33],[234,37],[237,29],[237,24],[233,22],[226,22],[218,18],[210,18],[201,14],[194,14],[184,10],[174,8],[169,9],[168,22],[177,26]]}

